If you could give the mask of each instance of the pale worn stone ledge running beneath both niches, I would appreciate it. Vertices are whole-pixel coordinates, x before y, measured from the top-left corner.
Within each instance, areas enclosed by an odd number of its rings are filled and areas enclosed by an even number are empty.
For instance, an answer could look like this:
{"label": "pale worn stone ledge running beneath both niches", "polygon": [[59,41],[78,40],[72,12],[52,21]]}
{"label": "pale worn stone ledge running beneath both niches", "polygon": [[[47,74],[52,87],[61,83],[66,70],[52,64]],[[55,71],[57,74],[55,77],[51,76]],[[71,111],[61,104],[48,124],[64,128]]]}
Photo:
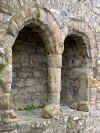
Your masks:
{"label": "pale worn stone ledge running beneath both niches", "polygon": [[100,133],[100,111],[82,112],[67,106],[62,110],[64,117],[56,119],[43,119],[42,110],[17,112],[16,130],[4,133]]}

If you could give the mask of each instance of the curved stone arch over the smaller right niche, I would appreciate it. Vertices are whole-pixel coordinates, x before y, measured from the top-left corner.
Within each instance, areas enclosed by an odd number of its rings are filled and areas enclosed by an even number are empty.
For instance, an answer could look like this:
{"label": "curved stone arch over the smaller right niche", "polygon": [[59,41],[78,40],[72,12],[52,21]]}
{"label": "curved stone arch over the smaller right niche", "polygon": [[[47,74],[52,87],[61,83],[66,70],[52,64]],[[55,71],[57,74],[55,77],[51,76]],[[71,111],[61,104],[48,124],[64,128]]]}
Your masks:
{"label": "curved stone arch over the smaller right niche", "polygon": [[[77,20],[77,19],[71,19],[68,21],[68,23],[65,25],[65,27],[68,27],[68,35],[74,33],[74,34],[79,34],[82,36],[84,42],[88,41],[90,51],[90,57],[92,58],[92,65],[93,67],[96,65],[96,54],[97,54],[97,49],[96,49],[96,40],[95,40],[95,35],[92,31],[92,29],[89,27],[89,25],[83,21]],[[65,31],[66,34],[66,31]]]}

